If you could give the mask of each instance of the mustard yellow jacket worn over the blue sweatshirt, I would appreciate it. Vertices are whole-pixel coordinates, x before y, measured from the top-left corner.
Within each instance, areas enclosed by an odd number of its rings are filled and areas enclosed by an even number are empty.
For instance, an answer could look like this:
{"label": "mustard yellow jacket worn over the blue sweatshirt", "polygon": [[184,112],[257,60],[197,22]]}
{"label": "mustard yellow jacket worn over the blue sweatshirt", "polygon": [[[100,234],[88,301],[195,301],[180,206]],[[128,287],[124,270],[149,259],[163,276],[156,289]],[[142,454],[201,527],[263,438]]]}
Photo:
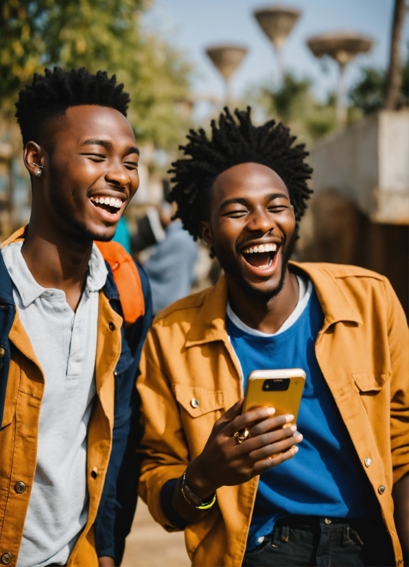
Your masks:
{"label": "mustard yellow jacket worn over the blue sweatshirt", "polygon": [[[382,275],[355,266],[292,265],[316,288],[325,315],[316,358],[381,506],[398,565],[402,557],[391,492],[409,470],[404,311]],[[176,528],[161,509],[163,485],[183,474],[215,420],[243,395],[226,334],[226,301],[224,279],[177,301],[156,317],[143,349],[137,386],[145,429],[139,494],[168,531]],[[199,400],[198,407],[191,406],[192,398]],[[253,478],[221,487],[217,505],[185,529],[194,566],[242,564],[257,483]]]}

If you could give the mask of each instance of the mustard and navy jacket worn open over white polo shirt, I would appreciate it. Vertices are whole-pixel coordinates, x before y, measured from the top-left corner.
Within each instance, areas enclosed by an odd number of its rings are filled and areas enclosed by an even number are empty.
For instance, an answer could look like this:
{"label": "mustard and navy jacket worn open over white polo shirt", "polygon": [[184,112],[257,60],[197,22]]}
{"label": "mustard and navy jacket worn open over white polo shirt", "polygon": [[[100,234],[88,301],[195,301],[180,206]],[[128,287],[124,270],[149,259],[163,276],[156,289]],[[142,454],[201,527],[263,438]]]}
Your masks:
{"label": "mustard and navy jacket worn open over white polo shirt", "polygon": [[[23,239],[23,233],[24,229],[17,231],[3,246]],[[144,290],[142,299],[145,299],[145,315],[132,327],[132,340],[128,345],[122,335],[123,319],[110,303],[110,299],[119,300],[112,273],[108,279],[111,282],[110,291],[108,293],[106,283],[99,298],[95,360],[97,395],[87,432],[89,514],[86,526],[69,557],[69,567],[97,567],[97,549],[102,549],[100,555],[115,555],[119,562],[124,537],[129,531],[128,518],[122,520],[117,514],[120,507],[117,505],[119,496],[116,493],[116,483],[117,477],[123,478],[117,470],[126,458],[123,445],[126,445],[130,410],[134,404],[131,393],[135,393],[139,349],[152,320],[152,302],[150,293]],[[0,429],[0,564],[14,567],[36,471],[38,420],[45,380],[30,338],[15,308],[12,284],[8,280],[10,276],[0,253],[0,394],[3,394],[3,386],[7,386],[4,404],[0,407],[0,416],[3,410]],[[147,284],[146,275],[143,275],[143,287],[144,281]],[[117,303],[118,301],[115,305]],[[11,314],[10,324],[8,317],[3,316],[6,311]],[[127,386],[129,392],[126,391]],[[1,402],[0,395],[0,406]],[[135,452],[133,455],[135,456]],[[125,497],[135,509],[137,465],[136,470],[133,470],[132,456],[126,462],[130,471],[129,474],[127,470],[126,474],[130,478]],[[97,512],[101,513],[103,491],[105,496],[108,494],[108,498],[103,499],[104,522],[100,522],[103,525],[98,531],[95,520]],[[113,509],[106,502],[113,502]],[[119,537],[114,537],[114,524],[116,534],[118,531],[124,532]],[[117,540],[120,540],[119,543]]]}

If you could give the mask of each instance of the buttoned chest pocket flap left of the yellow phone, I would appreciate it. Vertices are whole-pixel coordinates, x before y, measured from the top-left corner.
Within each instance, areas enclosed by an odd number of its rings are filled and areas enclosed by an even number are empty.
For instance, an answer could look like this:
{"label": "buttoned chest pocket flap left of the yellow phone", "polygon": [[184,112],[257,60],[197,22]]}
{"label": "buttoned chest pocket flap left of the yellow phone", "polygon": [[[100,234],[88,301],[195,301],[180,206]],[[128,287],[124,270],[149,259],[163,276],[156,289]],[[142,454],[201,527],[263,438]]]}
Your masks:
{"label": "buttoned chest pocket flap left of the yellow phone", "polygon": [[224,408],[222,391],[194,388],[184,384],[174,386],[176,400],[191,417],[199,417]]}

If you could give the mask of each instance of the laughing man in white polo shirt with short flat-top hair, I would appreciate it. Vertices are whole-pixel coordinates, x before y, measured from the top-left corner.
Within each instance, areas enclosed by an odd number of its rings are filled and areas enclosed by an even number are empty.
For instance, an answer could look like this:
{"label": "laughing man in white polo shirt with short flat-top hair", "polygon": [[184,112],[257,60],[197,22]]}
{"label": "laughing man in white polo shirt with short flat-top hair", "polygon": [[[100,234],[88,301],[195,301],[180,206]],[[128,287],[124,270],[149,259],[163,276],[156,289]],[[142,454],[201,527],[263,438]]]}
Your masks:
{"label": "laughing man in white polo shirt with short flat-top hair", "polygon": [[[148,279],[110,242],[139,186],[124,85],[45,69],[16,102],[30,222],[0,253],[0,562],[121,562]],[[1,419],[2,418],[2,419]]]}

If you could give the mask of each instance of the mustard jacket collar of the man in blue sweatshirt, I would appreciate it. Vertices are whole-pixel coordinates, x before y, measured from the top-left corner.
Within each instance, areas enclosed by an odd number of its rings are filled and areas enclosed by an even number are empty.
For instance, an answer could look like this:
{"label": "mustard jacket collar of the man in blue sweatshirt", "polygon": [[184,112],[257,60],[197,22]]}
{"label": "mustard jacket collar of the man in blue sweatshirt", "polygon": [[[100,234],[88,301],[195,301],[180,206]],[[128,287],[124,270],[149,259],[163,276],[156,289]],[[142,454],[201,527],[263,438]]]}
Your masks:
{"label": "mustard jacket collar of the man in blue sweatshirt", "polygon": [[[324,264],[290,262],[290,267],[294,271],[307,274],[314,283],[325,317],[323,331],[340,321],[363,324],[362,317],[351,307],[336,278],[325,270]],[[226,343],[227,296],[227,283],[223,276],[205,296],[195,323],[187,335],[186,347],[210,343],[213,340],[223,340]]]}

